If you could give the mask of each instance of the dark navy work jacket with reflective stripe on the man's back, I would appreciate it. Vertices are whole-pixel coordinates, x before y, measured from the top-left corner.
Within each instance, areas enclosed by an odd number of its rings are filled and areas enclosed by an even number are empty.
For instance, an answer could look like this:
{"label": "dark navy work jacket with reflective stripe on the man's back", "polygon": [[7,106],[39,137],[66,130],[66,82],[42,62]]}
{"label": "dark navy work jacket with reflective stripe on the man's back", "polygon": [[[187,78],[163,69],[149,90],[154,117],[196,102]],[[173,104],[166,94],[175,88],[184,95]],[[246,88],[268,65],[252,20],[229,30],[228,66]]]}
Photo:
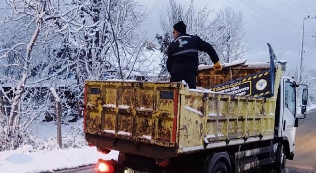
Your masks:
{"label": "dark navy work jacket with reflective stripe on the man's back", "polygon": [[199,65],[198,50],[207,52],[213,63],[219,61],[216,51],[211,44],[203,41],[200,37],[181,34],[175,38],[170,43],[167,52],[167,69],[171,76],[183,71],[196,75]]}

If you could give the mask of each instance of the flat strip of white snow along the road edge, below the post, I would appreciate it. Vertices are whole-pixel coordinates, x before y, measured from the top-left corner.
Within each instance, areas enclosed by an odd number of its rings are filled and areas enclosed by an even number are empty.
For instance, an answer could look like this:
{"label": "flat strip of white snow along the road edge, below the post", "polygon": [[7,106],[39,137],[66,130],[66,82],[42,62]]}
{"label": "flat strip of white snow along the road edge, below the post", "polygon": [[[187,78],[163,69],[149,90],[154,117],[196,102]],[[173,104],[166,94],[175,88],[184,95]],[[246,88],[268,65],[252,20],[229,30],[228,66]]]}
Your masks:
{"label": "flat strip of white snow along the road edge, below the post", "polygon": [[[96,164],[99,158],[117,160],[118,151],[104,155],[95,147],[36,151],[30,145],[0,154],[1,173],[41,173]],[[31,151],[31,152],[30,152]]]}

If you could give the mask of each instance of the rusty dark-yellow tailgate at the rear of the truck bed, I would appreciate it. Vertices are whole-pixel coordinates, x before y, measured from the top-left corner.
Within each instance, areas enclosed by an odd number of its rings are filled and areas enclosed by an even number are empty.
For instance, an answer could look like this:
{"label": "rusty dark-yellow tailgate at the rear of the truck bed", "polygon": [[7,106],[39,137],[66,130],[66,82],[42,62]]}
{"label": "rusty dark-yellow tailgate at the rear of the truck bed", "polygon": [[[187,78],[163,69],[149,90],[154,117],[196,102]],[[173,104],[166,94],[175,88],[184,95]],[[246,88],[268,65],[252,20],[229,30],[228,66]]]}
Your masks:
{"label": "rusty dark-yellow tailgate at the rear of the truck bed", "polygon": [[[87,133],[173,147],[177,142],[179,83],[88,81],[96,110],[87,111]],[[176,100],[176,101],[175,101]],[[175,127],[175,128],[174,128]]]}

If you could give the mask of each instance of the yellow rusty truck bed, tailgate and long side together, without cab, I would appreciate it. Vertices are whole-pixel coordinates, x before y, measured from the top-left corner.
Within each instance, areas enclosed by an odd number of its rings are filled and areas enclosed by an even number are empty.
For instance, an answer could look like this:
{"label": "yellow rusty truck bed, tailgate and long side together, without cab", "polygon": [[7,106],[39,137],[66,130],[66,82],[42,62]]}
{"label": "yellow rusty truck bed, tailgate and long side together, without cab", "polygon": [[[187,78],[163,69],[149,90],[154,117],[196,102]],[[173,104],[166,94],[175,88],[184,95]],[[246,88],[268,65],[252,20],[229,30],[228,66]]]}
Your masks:
{"label": "yellow rusty truck bed, tailgate and long side together, without cab", "polygon": [[102,148],[164,159],[273,138],[275,97],[137,81],[87,81],[85,96],[85,137]]}

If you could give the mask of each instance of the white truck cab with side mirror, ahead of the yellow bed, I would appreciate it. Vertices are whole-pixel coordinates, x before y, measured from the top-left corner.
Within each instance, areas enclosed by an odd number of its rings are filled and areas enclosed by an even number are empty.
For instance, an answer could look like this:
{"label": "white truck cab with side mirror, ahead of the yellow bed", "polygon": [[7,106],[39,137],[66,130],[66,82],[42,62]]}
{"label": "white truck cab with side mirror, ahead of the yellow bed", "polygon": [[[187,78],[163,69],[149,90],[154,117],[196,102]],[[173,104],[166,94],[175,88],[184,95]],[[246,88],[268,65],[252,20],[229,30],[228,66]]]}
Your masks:
{"label": "white truck cab with side mirror, ahead of the yellow bed", "polygon": [[[300,86],[306,88],[303,89],[302,107],[298,111],[297,89]],[[298,85],[293,78],[282,77],[276,102],[275,140],[282,141],[285,159],[293,160],[294,157],[295,131],[299,119],[304,119],[306,115],[307,92],[306,85]]]}

